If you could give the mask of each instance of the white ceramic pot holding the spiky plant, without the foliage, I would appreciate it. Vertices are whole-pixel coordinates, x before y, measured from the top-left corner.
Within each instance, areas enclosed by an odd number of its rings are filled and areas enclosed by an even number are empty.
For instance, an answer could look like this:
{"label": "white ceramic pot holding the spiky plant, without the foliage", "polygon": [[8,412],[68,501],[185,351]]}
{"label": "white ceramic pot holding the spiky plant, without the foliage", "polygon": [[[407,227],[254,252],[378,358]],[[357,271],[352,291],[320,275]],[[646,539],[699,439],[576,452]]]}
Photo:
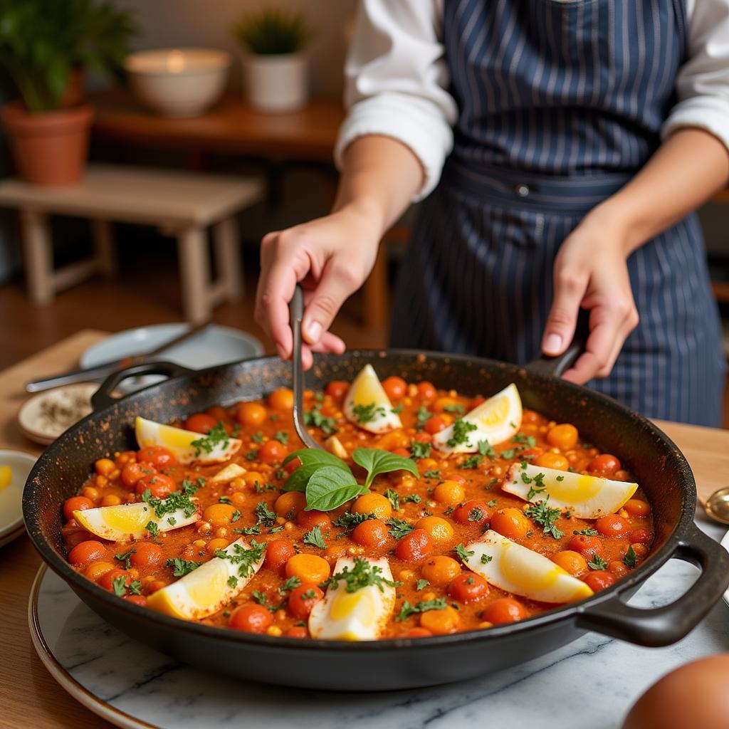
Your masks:
{"label": "white ceramic pot holding the spiky plant, without the foliage", "polygon": [[308,60],[303,53],[245,55],[248,99],[261,112],[293,112],[309,98]]}

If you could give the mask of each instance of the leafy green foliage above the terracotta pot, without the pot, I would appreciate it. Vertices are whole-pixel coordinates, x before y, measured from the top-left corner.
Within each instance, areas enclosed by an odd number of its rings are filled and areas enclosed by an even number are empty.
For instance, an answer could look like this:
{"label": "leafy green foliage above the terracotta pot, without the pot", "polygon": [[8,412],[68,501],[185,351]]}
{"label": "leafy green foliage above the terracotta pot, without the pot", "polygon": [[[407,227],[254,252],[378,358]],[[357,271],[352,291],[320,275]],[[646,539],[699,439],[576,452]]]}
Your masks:
{"label": "leafy green foliage above the terracotta pot, without the pot", "polygon": [[74,67],[117,74],[136,32],[105,0],[0,0],[0,65],[29,112],[58,109]]}

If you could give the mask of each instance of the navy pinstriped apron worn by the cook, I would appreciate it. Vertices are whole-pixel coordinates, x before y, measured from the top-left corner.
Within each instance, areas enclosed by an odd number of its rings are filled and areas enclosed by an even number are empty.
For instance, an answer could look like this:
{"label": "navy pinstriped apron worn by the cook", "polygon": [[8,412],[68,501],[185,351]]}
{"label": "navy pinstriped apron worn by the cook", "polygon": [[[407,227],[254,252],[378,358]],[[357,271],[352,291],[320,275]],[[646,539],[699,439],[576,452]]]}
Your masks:
{"label": "navy pinstriped apron worn by the cook", "polygon": [[[445,0],[459,119],[399,274],[393,346],[539,355],[555,255],[660,144],[686,23],[683,0]],[[640,324],[589,386],[649,417],[720,424],[725,362],[695,216],[628,270]]]}

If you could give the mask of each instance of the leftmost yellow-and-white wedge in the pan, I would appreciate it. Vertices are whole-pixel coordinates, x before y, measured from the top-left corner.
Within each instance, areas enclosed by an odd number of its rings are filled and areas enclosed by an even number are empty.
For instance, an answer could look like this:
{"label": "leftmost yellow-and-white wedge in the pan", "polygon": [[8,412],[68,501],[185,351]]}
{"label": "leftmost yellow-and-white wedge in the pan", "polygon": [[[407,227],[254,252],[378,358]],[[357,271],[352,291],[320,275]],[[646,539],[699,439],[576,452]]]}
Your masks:
{"label": "leftmost yellow-and-white wedge in the pan", "polygon": [[[190,511],[189,509],[187,510]],[[120,504],[119,506],[101,506],[95,509],[74,511],[74,519],[91,534],[111,542],[122,542],[128,539],[141,539],[149,534],[147,525],[152,522],[156,531],[171,531],[181,526],[195,523],[200,519],[200,510],[196,509],[186,515],[184,508],[157,516],[155,509],[145,502],[138,504]]]}

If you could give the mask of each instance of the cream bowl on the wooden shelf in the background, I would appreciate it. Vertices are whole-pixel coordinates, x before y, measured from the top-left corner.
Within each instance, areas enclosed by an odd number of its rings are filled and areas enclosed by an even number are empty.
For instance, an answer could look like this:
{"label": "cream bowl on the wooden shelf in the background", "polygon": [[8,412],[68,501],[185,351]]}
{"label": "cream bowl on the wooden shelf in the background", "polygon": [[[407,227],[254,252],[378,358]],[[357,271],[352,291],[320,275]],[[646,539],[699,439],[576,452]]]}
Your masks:
{"label": "cream bowl on the wooden shelf in the background", "polygon": [[165,117],[197,117],[227,82],[230,54],[208,48],[168,48],[130,53],[124,62],[139,100]]}

